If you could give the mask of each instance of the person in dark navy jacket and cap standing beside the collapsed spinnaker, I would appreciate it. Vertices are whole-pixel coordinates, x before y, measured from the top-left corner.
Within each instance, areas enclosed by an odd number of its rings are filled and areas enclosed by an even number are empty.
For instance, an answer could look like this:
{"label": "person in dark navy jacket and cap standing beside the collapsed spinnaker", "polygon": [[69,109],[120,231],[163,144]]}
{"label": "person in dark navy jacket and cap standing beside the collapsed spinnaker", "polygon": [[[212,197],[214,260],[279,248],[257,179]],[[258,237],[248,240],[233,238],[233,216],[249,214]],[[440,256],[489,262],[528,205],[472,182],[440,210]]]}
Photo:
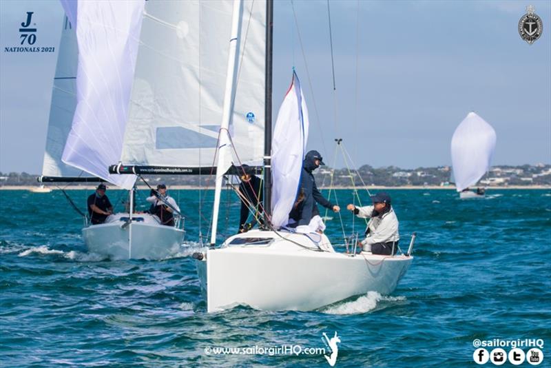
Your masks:
{"label": "person in dark navy jacket and cap standing beside the collapsed spinnaker", "polygon": [[320,213],[318,206],[315,204],[316,202],[320,203],[323,207],[332,209],[333,212],[340,211],[340,207],[333,205],[333,203],[324,198],[315,185],[315,179],[312,172],[320,167],[320,165],[325,165],[320,152],[309,151],[306,156],[304,156],[302,173],[300,175],[300,186],[304,192],[304,200],[302,201],[302,209],[300,209],[299,226],[309,225],[313,216]]}

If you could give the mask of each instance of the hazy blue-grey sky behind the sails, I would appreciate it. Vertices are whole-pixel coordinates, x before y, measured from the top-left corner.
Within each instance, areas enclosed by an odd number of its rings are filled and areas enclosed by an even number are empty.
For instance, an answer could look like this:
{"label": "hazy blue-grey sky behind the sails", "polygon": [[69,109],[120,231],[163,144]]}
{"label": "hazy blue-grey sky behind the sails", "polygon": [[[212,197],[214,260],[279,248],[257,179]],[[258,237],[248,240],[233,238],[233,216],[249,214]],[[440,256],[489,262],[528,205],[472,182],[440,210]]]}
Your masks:
{"label": "hazy blue-grey sky behind the sails", "polygon": [[[543,34],[518,33],[526,6]],[[296,16],[297,22],[295,23]],[[551,163],[551,1],[275,1],[273,113],[295,66],[309,149],[356,167],[450,165],[455,127],[475,111],[497,132],[493,165]],[[0,0],[0,172],[41,172],[56,53],[10,53],[33,11],[40,47],[59,47],[59,1]],[[301,47],[302,45],[302,47]],[[304,56],[303,57],[303,51]],[[336,160],[336,161],[334,161]]]}

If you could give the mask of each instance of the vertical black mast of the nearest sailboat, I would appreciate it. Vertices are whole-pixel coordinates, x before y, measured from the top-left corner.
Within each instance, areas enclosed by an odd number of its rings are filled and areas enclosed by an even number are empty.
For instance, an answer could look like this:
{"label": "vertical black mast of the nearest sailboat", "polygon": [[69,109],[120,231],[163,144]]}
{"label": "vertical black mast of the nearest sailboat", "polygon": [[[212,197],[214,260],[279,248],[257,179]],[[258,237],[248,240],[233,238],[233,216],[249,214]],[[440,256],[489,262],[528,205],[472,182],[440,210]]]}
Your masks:
{"label": "vertical black mast of the nearest sailboat", "polygon": [[273,41],[273,0],[266,1],[266,71],[264,98],[264,223],[271,217],[271,80]]}

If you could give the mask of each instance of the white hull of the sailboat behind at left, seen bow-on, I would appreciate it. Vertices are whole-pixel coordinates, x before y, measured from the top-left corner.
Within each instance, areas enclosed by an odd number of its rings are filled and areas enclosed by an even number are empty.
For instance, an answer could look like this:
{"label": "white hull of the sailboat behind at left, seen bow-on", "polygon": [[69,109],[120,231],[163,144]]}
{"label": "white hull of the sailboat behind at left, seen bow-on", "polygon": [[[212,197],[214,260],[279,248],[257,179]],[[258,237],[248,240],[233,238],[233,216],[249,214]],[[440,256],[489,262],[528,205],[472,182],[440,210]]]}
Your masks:
{"label": "white hull of the sailboat behind at left, seen bow-on", "polygon": [[160,225],[150,214],[134,214],[134,221],[125,227],[123,218],[128,214],[115,214],[106,223],[85,227],[82,234],[89,252],[114,260],[157,260],[176,254],[183,243],[182,229]]}

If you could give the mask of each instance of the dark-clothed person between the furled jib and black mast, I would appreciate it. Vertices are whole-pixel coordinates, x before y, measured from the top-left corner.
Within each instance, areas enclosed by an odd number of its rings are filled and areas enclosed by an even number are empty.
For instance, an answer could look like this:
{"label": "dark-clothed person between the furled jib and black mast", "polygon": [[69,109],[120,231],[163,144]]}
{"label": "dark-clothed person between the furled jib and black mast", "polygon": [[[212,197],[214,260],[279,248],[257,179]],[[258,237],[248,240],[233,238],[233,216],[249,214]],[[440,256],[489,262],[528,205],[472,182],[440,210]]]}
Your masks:
{"label": "dark-clothed person between the furled jib and black mast", "polygon": [[[257,218],[261,220],[262,214],[262,179],[256,176],[249,165],[237,167],[241,183],[239,184],[239,198],[241,199],[241,212],[239,216],[239,232],[248,232],[256,223]],[[254,207],[254,219],[247,223],[249,208]]]}

